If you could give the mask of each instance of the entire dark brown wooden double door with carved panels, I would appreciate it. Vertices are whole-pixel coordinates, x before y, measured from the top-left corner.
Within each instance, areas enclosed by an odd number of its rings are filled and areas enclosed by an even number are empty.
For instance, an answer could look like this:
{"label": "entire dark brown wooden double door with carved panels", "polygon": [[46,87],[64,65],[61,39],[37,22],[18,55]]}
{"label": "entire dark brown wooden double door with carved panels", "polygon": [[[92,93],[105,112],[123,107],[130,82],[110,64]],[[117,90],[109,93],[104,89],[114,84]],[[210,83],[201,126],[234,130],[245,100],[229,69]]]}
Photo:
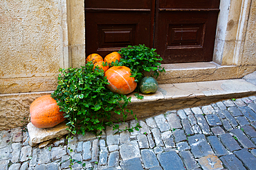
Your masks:
{"label": "entire dark brown wooden double door with carved panels", "polygon": [[85,0],[86,54],[156,48],[163,63],[212,61],[219,0]]}

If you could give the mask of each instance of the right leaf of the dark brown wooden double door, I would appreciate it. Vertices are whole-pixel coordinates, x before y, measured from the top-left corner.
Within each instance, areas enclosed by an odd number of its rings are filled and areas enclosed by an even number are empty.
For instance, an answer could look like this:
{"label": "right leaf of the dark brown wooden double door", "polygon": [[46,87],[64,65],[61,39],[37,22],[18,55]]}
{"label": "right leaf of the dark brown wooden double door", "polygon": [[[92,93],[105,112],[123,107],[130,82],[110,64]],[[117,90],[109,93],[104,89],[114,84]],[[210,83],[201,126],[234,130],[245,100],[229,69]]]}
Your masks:
{"label": "right leaf of the dark brown wooden double door", "polygon": [[217,5],[212,0],[159,0],[154,47],[162,63],[212,61]]}

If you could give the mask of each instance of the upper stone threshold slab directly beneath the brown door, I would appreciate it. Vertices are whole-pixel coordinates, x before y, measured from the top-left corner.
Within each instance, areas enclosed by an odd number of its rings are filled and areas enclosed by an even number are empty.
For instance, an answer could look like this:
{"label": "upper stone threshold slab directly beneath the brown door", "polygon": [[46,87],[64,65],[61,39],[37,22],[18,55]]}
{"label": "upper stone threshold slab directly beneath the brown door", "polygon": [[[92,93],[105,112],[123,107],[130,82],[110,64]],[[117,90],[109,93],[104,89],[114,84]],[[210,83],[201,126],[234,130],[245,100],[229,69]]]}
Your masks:
{"label": "upper stone threshold slab directly beneath the brown door", "polygon": [[157,78],[159,84],[219,81],[238,77],[237,65],[218,65],[211,62],[163,64],[166,72]]}

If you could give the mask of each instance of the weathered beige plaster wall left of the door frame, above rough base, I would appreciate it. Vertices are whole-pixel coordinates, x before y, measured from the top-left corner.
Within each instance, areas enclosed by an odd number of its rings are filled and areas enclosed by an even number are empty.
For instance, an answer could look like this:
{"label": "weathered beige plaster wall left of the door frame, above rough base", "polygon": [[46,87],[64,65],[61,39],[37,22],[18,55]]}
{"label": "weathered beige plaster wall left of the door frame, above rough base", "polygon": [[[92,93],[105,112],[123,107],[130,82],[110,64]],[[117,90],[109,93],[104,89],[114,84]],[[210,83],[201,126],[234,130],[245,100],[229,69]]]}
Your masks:
{"label": "weathered beige plaster wall left of the door frame, above rough base", "polygon": [[0,94],[56,88],[64,66],[62,4],[0,1]]}

